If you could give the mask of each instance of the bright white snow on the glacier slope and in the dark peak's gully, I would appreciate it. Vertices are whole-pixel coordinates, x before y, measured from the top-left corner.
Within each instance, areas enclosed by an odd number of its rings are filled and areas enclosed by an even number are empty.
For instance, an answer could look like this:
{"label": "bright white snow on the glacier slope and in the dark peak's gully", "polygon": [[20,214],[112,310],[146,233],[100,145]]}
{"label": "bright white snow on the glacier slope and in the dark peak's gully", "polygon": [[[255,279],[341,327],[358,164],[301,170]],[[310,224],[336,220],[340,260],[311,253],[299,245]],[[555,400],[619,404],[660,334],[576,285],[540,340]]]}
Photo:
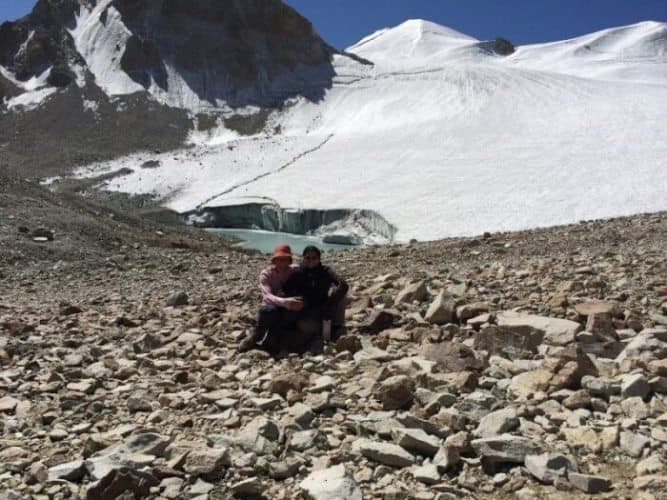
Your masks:
{"label": "bright white snow on the glacier slope and in the dark peak's gully", "polygon": [[[100,33],[91,15],[73,30],[78,49],[103,88],[133,90],[96,59],[107,64],[99,47],[122,40],[122,30]],[[130,168],[105,188],[153,193],[179,212],[245,199],[371,209],[398,228],[399,241],[667,209],[665,23],[503,57],[411,20],[348,51],[374,66],[336,56],[322,102],[297,99],[272,114],[267,130],[279,125],[278,135],[220,128],[182,152],[133,155],[77,175]],[[185,95],[181,84],[175,100]],[[147,160],[160,166],[142,168]]]}

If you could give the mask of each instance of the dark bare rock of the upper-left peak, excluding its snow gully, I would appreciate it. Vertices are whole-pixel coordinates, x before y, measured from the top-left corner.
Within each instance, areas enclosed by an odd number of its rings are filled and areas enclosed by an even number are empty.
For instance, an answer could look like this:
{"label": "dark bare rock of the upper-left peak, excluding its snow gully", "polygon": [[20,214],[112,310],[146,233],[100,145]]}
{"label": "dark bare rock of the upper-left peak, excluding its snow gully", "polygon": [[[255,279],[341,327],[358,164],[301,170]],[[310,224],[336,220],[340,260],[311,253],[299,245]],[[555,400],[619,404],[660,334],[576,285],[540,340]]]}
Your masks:
{"label": "dark bare rock of the upper-left peak, excluding its snow gully", "polygon": [[[69,85],[71,63],[83,60],[67,28],[82,7],[94,5],[39,0],[31,14],[0,26],[0,64],[22,81],[53,68],[49,84]],[[334,50],[281,0],[114,0],[112,7],[132,33],[121,68],[145,88],[155,82],[169,90],[166,65],[200,99],[232,106],[279,105],[302,90],[316,100],[331,86]],[[310,83],[276,85],[303,67],[312,72]]]}

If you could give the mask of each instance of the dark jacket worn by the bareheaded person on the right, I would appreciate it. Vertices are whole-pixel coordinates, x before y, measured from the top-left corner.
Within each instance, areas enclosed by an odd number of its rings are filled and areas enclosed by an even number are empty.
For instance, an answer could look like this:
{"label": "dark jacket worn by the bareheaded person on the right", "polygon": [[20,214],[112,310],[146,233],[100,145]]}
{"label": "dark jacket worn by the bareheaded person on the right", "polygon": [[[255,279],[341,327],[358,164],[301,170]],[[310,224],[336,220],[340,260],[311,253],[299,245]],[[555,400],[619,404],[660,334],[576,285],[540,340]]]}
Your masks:
{"label": "dark jacket worn by the bareheaded person on the right", "polygon": [[288,297],[302,297],[307,309],[339,302],[348,288],[344,279],[322,264],[313,269],[299,266],[284,287]]}

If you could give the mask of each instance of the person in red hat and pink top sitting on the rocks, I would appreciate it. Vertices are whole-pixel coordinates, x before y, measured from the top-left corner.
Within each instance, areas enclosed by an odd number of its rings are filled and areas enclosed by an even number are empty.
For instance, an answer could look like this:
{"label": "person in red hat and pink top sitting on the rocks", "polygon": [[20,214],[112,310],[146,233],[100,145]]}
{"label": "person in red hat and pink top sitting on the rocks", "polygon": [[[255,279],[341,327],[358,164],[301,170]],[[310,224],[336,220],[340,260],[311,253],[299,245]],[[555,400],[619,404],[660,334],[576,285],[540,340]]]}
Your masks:
{"label": "person in red hat and pink top sitting on the rocks", "polygon": [[298,312],[303,302],[284,292],[285,283],[296,272],[292,265],[292,249],[289,245],[276,246],[271,256],[271,265],[259,275],[259,287],[262,292],[262,305],[259,308],[257,326],[249,337],[239,345],[239,351],[245,352],[261,345],[268,348],[278,342],[281,334],[294,328]]}

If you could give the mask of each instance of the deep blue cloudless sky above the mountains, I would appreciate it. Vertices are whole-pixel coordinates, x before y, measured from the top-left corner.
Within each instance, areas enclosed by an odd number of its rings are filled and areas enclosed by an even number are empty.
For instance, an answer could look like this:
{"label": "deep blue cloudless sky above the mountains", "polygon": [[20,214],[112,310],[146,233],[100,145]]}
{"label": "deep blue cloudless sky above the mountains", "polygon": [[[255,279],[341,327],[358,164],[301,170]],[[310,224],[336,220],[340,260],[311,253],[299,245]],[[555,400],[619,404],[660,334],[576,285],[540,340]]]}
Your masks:
{"label": "deep blue cloudless sky above the mountains", "polygon": [[[330,44],[345,48],[373,31],[421,18],[479,39],[515,44],[571,38],[638,21],[667,22],[667,0],[286,0]],[[0,22],[35,0],[0,0]]]}

